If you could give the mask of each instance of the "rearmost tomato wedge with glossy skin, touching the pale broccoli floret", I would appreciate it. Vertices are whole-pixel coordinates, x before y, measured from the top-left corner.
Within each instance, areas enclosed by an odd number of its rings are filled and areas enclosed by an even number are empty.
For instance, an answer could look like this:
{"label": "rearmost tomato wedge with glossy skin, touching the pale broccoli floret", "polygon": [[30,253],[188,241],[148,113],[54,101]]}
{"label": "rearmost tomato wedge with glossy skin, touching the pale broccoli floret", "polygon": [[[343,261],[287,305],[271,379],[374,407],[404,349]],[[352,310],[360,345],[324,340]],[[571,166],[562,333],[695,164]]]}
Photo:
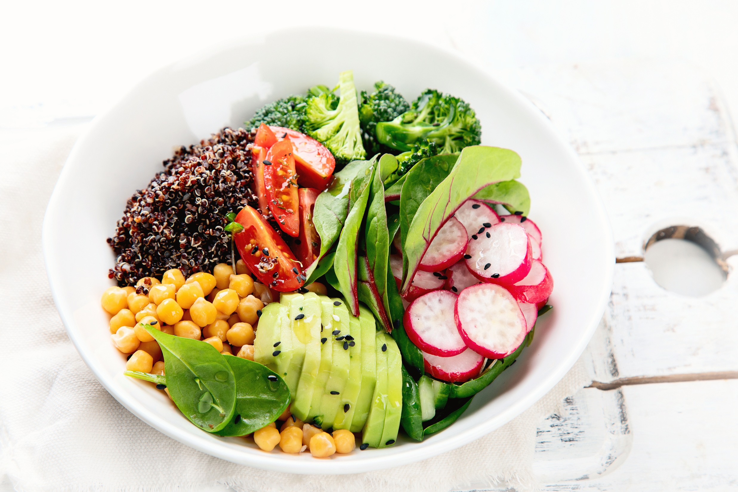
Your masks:
{"label": "rearmost tomato wedge with glossy skin, touching the pale broccoli floret", "polygon": [[278,140],[292,140],[294,164],[297,166],[297,184],[301,187],[325,190],[331,181],[336,159],[330,150],[299,131],[281,126],[270,126]]}

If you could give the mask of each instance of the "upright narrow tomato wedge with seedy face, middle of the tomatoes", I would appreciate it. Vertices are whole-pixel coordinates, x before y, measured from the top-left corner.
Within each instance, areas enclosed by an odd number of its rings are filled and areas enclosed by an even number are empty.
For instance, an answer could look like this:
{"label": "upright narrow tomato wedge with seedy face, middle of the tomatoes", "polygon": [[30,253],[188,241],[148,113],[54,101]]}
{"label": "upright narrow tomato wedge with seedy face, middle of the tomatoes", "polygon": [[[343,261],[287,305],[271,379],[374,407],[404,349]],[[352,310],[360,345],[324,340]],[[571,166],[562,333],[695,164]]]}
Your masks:
{"label": "upright narrow tomato wedge with seedy face, middle of the tomatoes", "polygon": [[269,209],[282,230],[297,238],[300,233],[300,219],[297,217],[297,172],[294,170],[292,142],[283,140],[272,145],[263,164]]}

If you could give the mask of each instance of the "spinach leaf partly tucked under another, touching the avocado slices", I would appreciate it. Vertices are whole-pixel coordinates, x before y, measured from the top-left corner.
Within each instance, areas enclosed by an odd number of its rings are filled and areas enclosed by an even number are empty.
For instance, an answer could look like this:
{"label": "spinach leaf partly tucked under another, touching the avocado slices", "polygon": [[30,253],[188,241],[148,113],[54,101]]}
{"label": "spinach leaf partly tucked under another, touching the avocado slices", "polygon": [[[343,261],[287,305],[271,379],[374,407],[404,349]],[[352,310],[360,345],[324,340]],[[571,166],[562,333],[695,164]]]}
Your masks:
{"label": "spinach leaf partly tucked under another, touching the avocado slices", "polygon": [[215,434],[245,436],[277,420],[289,405],[289,388],[283,379],[258,362],[224,358],[235,374],[235,415]]}

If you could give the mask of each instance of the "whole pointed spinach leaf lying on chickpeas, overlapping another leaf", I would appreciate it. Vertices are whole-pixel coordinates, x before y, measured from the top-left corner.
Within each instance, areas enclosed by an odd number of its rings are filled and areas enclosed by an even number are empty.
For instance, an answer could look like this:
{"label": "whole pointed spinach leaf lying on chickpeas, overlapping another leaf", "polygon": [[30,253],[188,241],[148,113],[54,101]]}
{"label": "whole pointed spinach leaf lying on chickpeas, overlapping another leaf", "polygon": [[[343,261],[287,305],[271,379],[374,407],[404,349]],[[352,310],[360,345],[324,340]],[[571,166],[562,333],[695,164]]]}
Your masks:
{"label": "whole pointed spinach leaf lying on chickpeas, overlapping another leaf", "polygon": [[235,409],[235,375],[213,345],[144,328],[162,347],[172,401],[190,422],[207,432],[223,429]]}

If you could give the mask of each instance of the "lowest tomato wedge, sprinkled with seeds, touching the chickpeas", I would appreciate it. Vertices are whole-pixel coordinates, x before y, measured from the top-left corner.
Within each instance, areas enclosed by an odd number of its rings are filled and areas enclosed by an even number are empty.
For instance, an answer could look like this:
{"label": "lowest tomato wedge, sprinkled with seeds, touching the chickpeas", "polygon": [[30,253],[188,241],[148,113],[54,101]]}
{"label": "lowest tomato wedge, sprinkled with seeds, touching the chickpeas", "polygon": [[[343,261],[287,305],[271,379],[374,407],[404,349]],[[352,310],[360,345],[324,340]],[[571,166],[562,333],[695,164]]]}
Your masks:
{"label": "lowest tomato wedge, sprinkled with seeds, touching the chickpeas", "polygon": [[244,230],[233,235],[238,254],[261,283],[275,291],[291,292],[302,287],[305,274],[287,243],[255,209],[244,207],[235,221]]}

